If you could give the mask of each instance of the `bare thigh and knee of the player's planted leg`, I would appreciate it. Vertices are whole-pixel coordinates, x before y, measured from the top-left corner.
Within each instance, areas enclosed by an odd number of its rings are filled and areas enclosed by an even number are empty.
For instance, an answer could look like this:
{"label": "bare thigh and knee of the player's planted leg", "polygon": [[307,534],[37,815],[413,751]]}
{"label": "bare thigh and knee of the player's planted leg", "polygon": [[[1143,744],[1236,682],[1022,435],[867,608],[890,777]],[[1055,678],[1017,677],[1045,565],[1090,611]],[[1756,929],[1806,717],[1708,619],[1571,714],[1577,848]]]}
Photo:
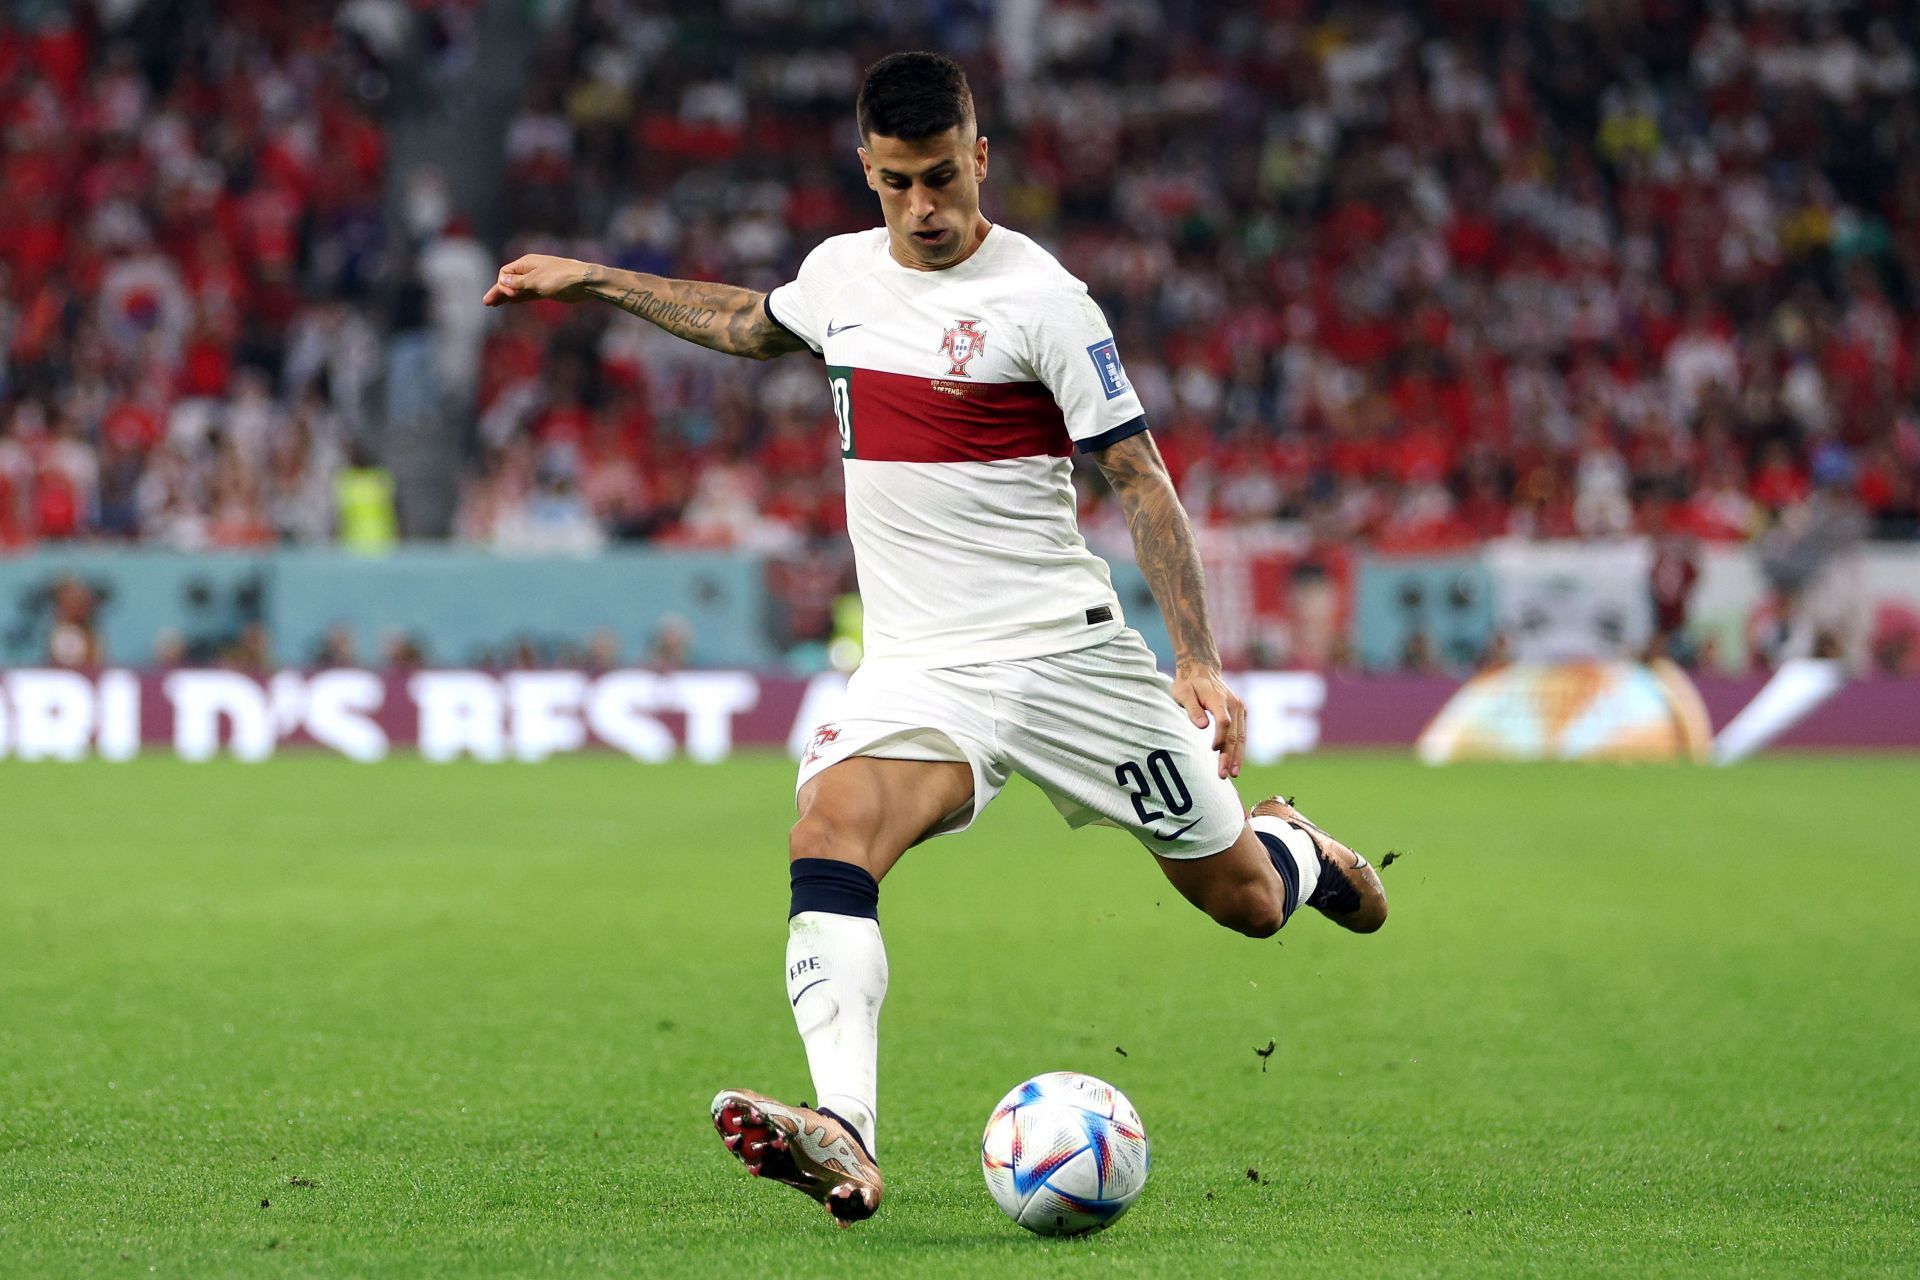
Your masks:
{"label": "bare thigh and knee of the player's planted leg", "polygon": [[973,802],[973,768],[958,760],[849,756],[801,785],[793,858],[864,865],[874,879],[893,869],[952,814]]}

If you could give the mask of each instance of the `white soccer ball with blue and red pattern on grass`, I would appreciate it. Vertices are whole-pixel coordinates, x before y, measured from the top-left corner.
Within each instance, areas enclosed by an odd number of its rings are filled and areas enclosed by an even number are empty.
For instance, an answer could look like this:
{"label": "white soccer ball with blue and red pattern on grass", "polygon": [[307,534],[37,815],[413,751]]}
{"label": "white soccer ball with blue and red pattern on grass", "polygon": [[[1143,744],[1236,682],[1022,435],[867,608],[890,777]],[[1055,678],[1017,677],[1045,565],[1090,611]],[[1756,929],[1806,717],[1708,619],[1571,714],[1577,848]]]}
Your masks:
{"label": "white soccer ball with blue and red pattern on grass", "polygon": [[1146,1128],[1106,1080],[1048,1071],[987,1117],[979,1167],[993,1203],[1029,1232],[1096,1232],[1146,1186]]}

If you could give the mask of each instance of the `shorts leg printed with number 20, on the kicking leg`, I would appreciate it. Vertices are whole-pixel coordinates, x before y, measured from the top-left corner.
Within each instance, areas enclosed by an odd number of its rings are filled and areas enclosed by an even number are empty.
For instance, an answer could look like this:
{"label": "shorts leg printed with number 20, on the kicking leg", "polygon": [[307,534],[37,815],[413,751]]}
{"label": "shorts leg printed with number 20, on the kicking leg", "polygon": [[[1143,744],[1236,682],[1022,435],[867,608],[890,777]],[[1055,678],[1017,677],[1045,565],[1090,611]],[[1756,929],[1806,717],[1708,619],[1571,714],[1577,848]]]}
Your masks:
{"label": "shorts leg printed with number 20, on the kicking leg", "polygon": [[1014,770],[1068,823],[1121,827],[1165,858],[1206,858],[1238,841],[1246,812],[1219,777],[1212,729],[1187,718],[1139,637],[1006,666],[1023,681],[1004,699]]}

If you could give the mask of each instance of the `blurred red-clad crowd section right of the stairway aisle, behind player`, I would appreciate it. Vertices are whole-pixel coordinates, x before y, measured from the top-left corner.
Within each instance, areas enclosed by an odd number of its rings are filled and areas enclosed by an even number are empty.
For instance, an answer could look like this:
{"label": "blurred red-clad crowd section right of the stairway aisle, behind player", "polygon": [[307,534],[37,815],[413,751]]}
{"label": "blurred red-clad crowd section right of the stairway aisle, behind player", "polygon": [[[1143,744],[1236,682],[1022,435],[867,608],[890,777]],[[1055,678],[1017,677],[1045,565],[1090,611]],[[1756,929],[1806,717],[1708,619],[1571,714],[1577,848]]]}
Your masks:
{"label": "blurred red-clad crowd section right of the stairway aisle, behind player", "polygon": [[[1106,307],[1196,516],[1749,539],[1822,491],[1916,533],[1910,6],[722,8],[578,10],[509,134],[509,253],[778,284],[877,221],[864,63],[945,48],[989,215]],[[484,367],[467,537],[837,530],[804,363],[555,307],[505,313]]]}

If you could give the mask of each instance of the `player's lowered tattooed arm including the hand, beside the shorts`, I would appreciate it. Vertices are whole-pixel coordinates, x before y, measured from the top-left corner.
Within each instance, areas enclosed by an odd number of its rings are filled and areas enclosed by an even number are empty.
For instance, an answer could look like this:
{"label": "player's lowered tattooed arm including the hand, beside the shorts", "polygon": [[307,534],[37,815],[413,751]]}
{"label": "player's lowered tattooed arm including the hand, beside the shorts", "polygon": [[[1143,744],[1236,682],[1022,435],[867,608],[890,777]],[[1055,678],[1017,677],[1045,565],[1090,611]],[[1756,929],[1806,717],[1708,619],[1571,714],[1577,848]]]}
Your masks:
{"label": "player's lowered tattooed arm including the hand, beside the shorts", "polygon": [[1246,752],[1246,706],[1219,676],[1219,651],[1206,614],[1200,549],[1167,464],[1148,432],[1092,455],[1127,512],[1133,553],[1173,637],[1173,699],[1198,727],[1213,720],[1219,775],[1238,777]]}

